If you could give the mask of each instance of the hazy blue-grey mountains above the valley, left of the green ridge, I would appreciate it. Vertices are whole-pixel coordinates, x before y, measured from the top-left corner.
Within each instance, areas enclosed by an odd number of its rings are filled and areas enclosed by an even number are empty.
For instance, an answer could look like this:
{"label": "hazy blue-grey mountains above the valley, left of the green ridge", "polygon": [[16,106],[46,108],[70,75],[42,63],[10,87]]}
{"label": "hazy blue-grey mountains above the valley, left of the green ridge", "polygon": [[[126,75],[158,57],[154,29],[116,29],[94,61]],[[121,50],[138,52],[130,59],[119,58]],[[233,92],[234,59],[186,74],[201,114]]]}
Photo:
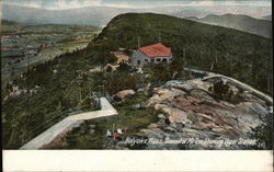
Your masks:
{"label": "hazy blue-grey mountains above the valley, left of the green ridge", "polygon": [[92,7],[72,10],[46,10],[4,4],[2,10],[2,19],[21,23],[104,25],[114,15],[124,11],[125,9],[105,7]]}

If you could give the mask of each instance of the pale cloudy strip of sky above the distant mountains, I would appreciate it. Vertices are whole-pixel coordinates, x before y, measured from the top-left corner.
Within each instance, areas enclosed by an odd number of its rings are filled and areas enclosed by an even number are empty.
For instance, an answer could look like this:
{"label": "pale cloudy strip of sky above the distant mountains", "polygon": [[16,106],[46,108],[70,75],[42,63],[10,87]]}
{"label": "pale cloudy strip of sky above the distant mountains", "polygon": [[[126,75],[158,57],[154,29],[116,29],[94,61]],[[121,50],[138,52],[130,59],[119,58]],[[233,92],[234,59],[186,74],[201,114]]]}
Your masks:
{"label": "pale cloudy strip of sky above the distant mountains", "polygon": [[271,0],[3,0],[4,4],[16,4],[48,10],[65,10],[83,7],[155,8],[201,5],[256,5],[271,7]]}

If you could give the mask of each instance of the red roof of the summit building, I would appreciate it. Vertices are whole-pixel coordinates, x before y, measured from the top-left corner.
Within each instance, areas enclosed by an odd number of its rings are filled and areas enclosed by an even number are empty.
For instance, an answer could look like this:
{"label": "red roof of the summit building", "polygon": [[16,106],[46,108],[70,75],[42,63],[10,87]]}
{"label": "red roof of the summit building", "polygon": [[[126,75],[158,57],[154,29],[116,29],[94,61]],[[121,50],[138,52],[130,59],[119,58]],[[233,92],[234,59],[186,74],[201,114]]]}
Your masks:
{"label": "red roof of the summit building", "polygon": [[165,47],[161,43],[141,47],[140,50],[148,57],[170,57],[171,48]]}

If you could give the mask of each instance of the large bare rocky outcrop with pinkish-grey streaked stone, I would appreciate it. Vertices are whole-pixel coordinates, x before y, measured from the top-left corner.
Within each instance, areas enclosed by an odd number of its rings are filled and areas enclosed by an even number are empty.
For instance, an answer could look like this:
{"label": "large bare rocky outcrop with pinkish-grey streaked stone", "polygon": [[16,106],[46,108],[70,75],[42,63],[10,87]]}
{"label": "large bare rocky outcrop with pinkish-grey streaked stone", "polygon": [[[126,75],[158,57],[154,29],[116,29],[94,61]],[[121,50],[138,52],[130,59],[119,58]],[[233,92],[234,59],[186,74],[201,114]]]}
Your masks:
{"label": "large bare rocky outcrop with pinkish-grey streaked stone", "polygon": [[[271,115],[267,103],[229,84],[230,100],[213,92],[216,81],[176,81],[153,90],[147,103],[162,111],[159,122],[140,130],[146,149],[246,149],[254,146],[252,130]],[[160,144],[159,144],[160,142]]]}

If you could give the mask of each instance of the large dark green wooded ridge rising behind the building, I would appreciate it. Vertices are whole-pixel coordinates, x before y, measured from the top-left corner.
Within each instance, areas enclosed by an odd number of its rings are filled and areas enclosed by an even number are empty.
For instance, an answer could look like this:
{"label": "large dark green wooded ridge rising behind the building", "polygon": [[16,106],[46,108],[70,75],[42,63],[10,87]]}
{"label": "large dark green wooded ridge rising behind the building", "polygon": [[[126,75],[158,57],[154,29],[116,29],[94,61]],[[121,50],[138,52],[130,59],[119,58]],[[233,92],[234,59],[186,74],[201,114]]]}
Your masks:
{"label": "large dark green wooded ridge rising behind the building", "polygon": [[[127,13],[114,18],[90,44],[111,49],[137,48],[161,42],[185,66],[196,66],[235,77],[264,92],[272,71],[271,39],[237,30],[202,24],[153,13]],[[183,57],[185,53],[185,57]]]}

